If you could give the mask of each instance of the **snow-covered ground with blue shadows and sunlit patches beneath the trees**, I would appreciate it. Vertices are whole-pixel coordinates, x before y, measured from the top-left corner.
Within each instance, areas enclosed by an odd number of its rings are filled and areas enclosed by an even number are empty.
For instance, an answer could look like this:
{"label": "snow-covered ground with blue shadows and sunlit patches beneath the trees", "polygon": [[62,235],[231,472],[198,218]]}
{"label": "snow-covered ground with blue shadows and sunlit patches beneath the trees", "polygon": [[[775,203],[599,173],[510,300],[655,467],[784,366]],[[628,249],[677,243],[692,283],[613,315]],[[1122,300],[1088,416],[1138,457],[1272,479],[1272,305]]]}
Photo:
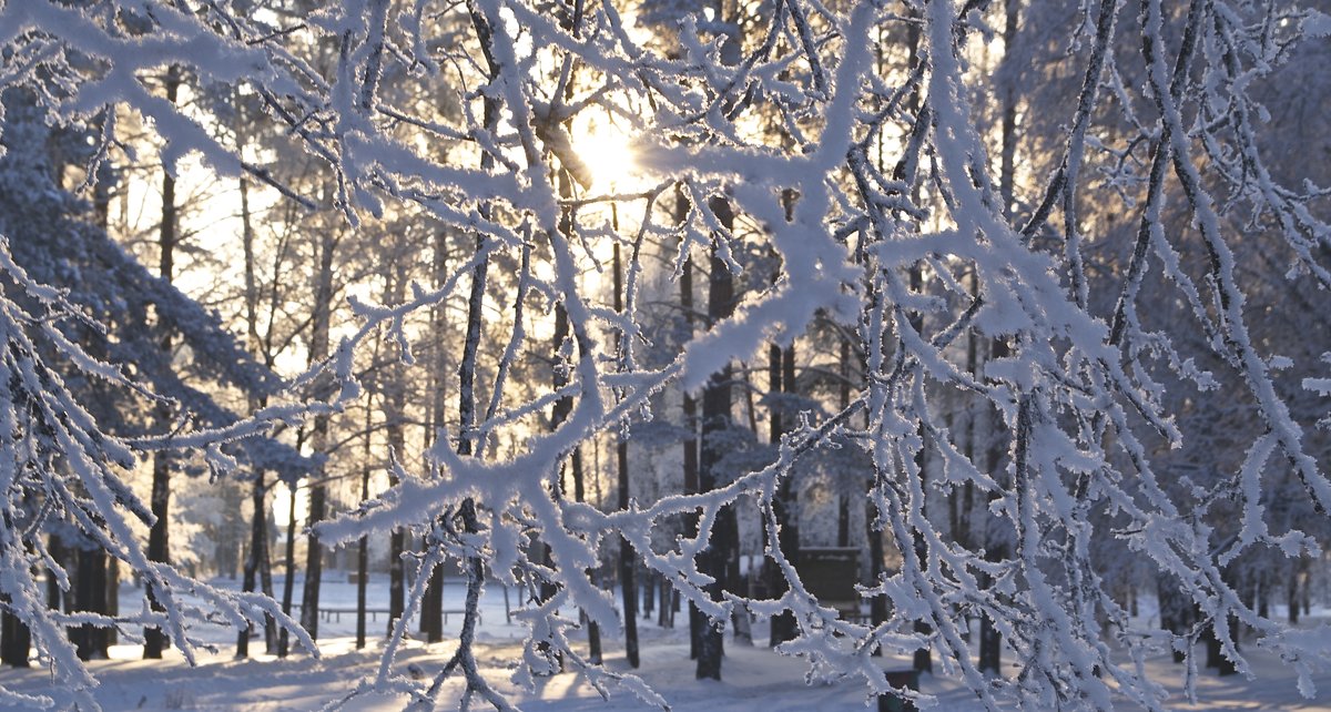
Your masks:
{"label": "snow-covered ground with blue shadows and sunlit patches beneath the trees", "polygon": [[[355,586],[347,584],[329,574],[323,586],[323,606],[329,608],[355,606]],[[280,583],[278,583],[280,586]],[[281,588],[278,588],[281,590]],[[297,588],[297,592],[299,588]],[[370,584],[371,607],[381,607],[386,582],[375,579]],[[445,607],[461,607],[461,582],[450,583],[445,592]],[[121,606],[133,606],[138,592],[125,590]],[[516,606],[516,591],[510,592],[511,603]],[[1145,611],[1143,611],[1145,614]],[[1331,615],[1323,611],[1323,616]],[[680,616],[683,620],[683,616]],[[457,631],[461,616],[449,616],[446,629]],[[371,645],[365,651],[353,649],[355,616],[334,616],[321,622],[321,659],[298,653],[286,660],[260,655],[250,660],[234,660],[232,647],[234,633],[218,631],[212,636],[220,645],[220,652],[206,656],[198,668],[189,668],[178,657],[165,661],[138,660],[137,645],[120,645],[112,649],[112,660],[92,663],[95,675],[101,680],[97,699],[108,711],[120,709],[253,709],[253,711],[307,711],[318,709],[346,695],[358,680],[371,675],[378,665],[382,631],[387,622],[379,616],[369,623]],[[862,684],[847,683],[837,685],[807,685],[805,668],[799,660],[783,657],[764,647],[744,647],[727,640],[727,659],[721,683],[693,680],[693,664],[688,659],[688,644],[683,631],[662,629],[651,622],[640,622],[643,655],[638,673],[662,693],[676,711],[703,709],[707,712],[739,712],[760,709],[763,712],[795,711],[835,711],[864,709],[865,691]],[[765,625],[756,625],[755,635],[765,637]],[[514,701],[531,711],[618,711],[643,709],[627,691],[611,689],[610,703],[583,684],[580,675],[564,673],[542,679],[536,689],[523,691],[510,681],[510,660],[520,653],[519,639],[522,628],[506,623],[503,590],[490,587],[483,600],[483,628],[479,652],[487,668],[487,677],[500,691],[512,695]],[[262,640],[252,647],[262,651]],[[425,675],[433,675],[453,652],[450,643],[438,645],[409,644],[397,665],[401,669],[415,668]],[[607,667],[624,669],[619,641],[606,637]],[[1331,711],[1331,671],[1315,677],[1319,695],[1304,700],[1295,689],[1294,672],[1279,660],[1252,652],[1250,663],[1256,669],[1256,681],[1242,677],[1217,677],[1203,673],[1198,684],[1199,704],[1190,705],[1182,695],[1182,669],[1167,656],[1159,656],[1149,663],[1157,680],[1162,680],[1173,692],[1173,704],[1178,709],[1213,711],[1256,711],[1256,709],[1323,709]],[[906,660],[885,659],[885,667],[909,667]],[[65,699],[63,691],[52,684],[48,672],[35,668],[29,671],[0,671],[0,684],[25,692],[48,695],[57,700]],[[938,697],[944,711],[976,709],[973,695],[961,688],[956,679],[948,676],[925,676],[922,689]],[[453,708],[459,683],[445,689],[445,708]],[[405,697],[362,697],[347,709],[379,711],[401,709]],[[1123,704],[1123,709],[1133,709]],[[5,709],[0,707],[0,709]]]}

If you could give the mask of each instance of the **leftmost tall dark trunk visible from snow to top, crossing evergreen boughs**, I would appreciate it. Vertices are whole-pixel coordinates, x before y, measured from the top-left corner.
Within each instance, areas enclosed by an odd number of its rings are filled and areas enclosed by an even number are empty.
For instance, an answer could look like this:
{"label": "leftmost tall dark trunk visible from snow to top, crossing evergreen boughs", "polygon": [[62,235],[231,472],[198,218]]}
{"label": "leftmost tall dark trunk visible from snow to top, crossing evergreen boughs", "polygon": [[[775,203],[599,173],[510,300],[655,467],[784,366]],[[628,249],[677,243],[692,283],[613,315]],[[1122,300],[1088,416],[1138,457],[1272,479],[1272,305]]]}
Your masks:
{"label": "leftmost tall dark trunk visible from snow to top, crossing evergreen boughs", "polygon": [[[166,101],[172,104],[176,102],[176,97],[180,90],[180,67],[173,64],[166,69]],[[162,221],[157,241],[160,248],[158,274],[166,283],[170,283],[172,281],[176,260],[176,178],[169,172],[173,168],[174,166],[166,168],[162,173]],[[166,354],[166,359],[169,362],[172,353],[170,331],[166,330],[166,325],[158,325],[158,327],[162,329],[161,349]],[[160,406],[157,409],[158,425],[162,427],[170,427],[170,419],[172,414],[169,407]],[[165,450],[154,452],[153,488],[149,499],[149,507],[153,511],[154,519],[152,528],[148,530],[149,562],[170,562],[170,455]],[[150,583],[148,584],[148,602],[154,611],[162,610],[161,604],[157,603],[157,592],[153,591],[153,586]],[[161,657],[165,647],[166,636],[160,628],[153,627],[144,631],[144,657]]]}

